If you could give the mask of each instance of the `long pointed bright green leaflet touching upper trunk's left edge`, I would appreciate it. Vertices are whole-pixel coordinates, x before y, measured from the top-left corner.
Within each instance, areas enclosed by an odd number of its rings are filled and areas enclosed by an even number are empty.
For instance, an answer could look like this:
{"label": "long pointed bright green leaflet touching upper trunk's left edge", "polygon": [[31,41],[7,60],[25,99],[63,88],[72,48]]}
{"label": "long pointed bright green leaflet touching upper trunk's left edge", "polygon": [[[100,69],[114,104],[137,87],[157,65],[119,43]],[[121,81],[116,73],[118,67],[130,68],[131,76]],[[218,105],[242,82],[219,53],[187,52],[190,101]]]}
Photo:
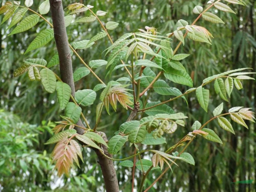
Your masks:
{"label": "long pointed bright green leaflet touching upper trunk's left edge", "polygon": [[53,29],[45,29],[41,31],[37,37],[31,42],[24,54],[34,49],[40,48],[50,42],[54,37]]}

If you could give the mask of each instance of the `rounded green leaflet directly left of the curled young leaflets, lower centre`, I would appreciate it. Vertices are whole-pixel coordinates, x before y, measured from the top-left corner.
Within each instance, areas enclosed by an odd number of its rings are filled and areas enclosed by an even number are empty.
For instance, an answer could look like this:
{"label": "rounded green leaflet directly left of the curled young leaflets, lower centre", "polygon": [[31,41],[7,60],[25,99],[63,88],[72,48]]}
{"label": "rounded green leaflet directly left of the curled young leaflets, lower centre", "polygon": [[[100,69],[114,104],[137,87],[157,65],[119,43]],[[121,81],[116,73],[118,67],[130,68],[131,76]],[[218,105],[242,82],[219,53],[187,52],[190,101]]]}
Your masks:
{"label": "rounded green leaflet directly left of the curled young leaflets, lower centre", "polygon": [[141,143],[147,134],[146,126],[135,127],[128,136],[130,143]]}

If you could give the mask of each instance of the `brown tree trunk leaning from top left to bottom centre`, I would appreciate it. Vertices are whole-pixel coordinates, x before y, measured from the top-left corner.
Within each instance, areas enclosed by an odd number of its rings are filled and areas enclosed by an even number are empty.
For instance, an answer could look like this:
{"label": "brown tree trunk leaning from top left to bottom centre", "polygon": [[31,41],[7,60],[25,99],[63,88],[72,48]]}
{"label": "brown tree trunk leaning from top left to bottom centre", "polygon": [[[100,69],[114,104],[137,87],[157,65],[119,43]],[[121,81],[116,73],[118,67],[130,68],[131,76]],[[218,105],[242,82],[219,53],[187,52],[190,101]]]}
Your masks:
{"label": "brown tree trunk leaning from top left to bottom centre", "polygon": [[[59,54],[60,60],[60,75],[61,80],[67,83],[72,90],[72,95],[75,93],[74,80],[73,80],[73,70],[72,70],[72,60],[69,49],[67,31],[65,28],[64,12],[61,0],[50,0],[50,8],[52,14],[52,23],[54,29],[54,38],[56,41],[56,46]],[[83,126],[81,120],[78,121],[78,125]],[[78,134],[83,134],[83,129],[76,127]],[[103,137],[106,140],[106,137]],[[103,147],[106,155],[106,148]],[[94,149],[98,158],[99,164],[101,166],[105,188],[107,192],[118,192],[118,180],[116,177],[116,172],[114,169],[113,161],[104,157],[98,150]]]}

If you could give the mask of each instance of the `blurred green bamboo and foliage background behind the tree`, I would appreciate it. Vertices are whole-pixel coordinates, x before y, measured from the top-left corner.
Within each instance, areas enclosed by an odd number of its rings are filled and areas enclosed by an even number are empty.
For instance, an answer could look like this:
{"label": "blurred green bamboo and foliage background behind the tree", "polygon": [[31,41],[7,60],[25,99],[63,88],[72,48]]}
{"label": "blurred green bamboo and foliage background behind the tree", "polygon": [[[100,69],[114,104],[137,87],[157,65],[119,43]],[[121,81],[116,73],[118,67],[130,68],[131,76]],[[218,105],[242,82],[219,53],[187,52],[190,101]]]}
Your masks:
{"label": "blurred green bamboo and foliage background behind the tree", "polygon": [[[145,26],[154,26],[163,35],[175,30],[179,19],[187,20],[190,24],[197,17],[193,14],[194,6],[206,6],[204,0],[94,0],[94,1],[63,1],[63,6],[80,2],[94,6],[93,11],[103,10],[108,14],[102,17],[102,22],[115,21],[118,28],[110,32],[114,40],[127,32],[144,29]],[[34,1],[31,7],[38,9],[42,1]],[[4,1],[0,1],[1,4]],[[24,1],[22,1],[22,4]],[[208,76],[243,67],[256,68],[256,2],[246,0],[247,6],[230,5],[236,15],[215,12],[225,24],[212,24],[202,19],[196,25],[204,26],[214,36],[212,45],[194,42],[185,39],[185,46],[180,47],[178,53],[191,54],[183,60],[186,70],[191,73],[194,87],[200,86],[202,80]],[[28,12],[27,12],[28,14]],[[29,13],[31,14],[31,13]],[[89,12],[78,14],[77,17],[89,16]],[[3,15],[0,15],[0,21]],[[50,19],[50,13],[47,14]],[[10,22],[10,21],[9,21]],[[0,26],[0,191],[104,191],[103,178],[97,157],[90,149],[83,151],[84,163],[81,169],[74,167],[71,177],[57,177],[54,163],[51,162],[50,153],[53,145],[44,145],[51,136],[51,128],[54,121],[59,120],[60,111],[57,103],[57,95],[44,91],[40,82],[31,82],[27,74],[13,78],[13,71],[27,58],[44,58],[47,62],[57,52],[55,42],[51,41],[44,48],[37,49],[24,55],[29,43],[35,38],[39,30],[47,26],[45,22],[39,22],[35,27],[25,33],[7,36],[9,30],[7,23]],[[72,24],[67,28],[69,41],[90,39],[101,31],[97,21],[92,23]],[[173,39],[172,48],[177,45]],[[110,46],[108,38],[97,41],[93,47],[80,50],[79,54],[86,63],[90,60],[105,59],[103,51]],[[73,59],[73,70],[82,64],[76,57]],[[58,73],[58,66],[54,71]],[[95,70],[105,82],[127,77],[124,70],[119,69],[112,73],[111,79],[105,77],[104,68]],[[162,77],[164,79],[164,77]],[[182,92],[188,88],[167,81],[171,87],[177,87]],[[91,74],[76,82],[76,89],[92,89],[98,81]],[[246,81],[244,89],[232,93],[231,101],[225,102],[224,112],[231,106],[256,106],[255,81]],[[210,87],[207,86],[209,89]],[[167,138],[168,146],[172,146],[191,130],[195,120],[206,122],[211,118],[211,111],[222,101],[214,93],[213,85],[210,88],[212,95],[209,102],[209,113],[204,113],[200,108],[195,94],[189,94],[188,107],[180,99],[167,103],[175,111],[183,112],[189,116],[186,127],[178,129]],[[168,96],[152,93],[150,101],[165,101]],[[83,113],[91,124],[95,123],[95,106],[91,105]],[[99,130],[104,131],[108,138],[119,130],[119,126],[126,121],[128,112],[118,106],[117,113],[111,110],[109,116],[105,110],[99,124]],[[169,171],[150,190],[154,191],[234,191],[230,183],[233,180],[253,179],[251,188],[246,191],[255,191],[256,185],[256,126],[250,122],[249,130],[238,124],[232,124],[236,135],[220,129],[217,122],[211,122],[207,128],[214,129],[223,141],[223,145],[209,142],[198,137],[188,147],[189,152],[195,158],[195,166],[180,164],[173,167],[173,173]],[[115,158],[124,158],[133,154],[132,148],[123,147]],[[167,145],[154,146],[153,148],[164,150]],[[178,148],[179,150],[179,148]],[[144,154],[147,158],[147,154]],[[82,162],[80,162],[82,163]],[[114,162],[120,184],[120,191],[131,191],[131,168],[118,166]],[[150,185],[161,172],[151,171],[145,185]],[[135,173],[135,188],[140,184],[141,172]]]}

